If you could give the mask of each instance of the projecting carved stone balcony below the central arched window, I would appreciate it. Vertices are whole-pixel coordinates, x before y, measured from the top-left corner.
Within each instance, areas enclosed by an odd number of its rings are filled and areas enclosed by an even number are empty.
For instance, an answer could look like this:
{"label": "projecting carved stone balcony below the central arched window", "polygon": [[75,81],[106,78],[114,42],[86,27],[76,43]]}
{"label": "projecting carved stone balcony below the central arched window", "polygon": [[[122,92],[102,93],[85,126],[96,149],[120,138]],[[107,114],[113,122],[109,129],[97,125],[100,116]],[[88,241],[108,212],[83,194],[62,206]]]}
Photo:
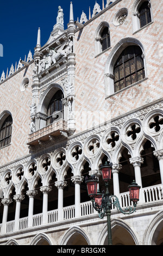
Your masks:
{"label": "projecting carved stone balcony below the central arched window", "polygon": [[37,130],[29,134],[28,145],[38,145],[41,142],[49,141],[53,137],[58,137],[61,135],[61,132],[67,131],[67,121],[60,119],[54,121],[52,124],[49,124],[40,130]]}

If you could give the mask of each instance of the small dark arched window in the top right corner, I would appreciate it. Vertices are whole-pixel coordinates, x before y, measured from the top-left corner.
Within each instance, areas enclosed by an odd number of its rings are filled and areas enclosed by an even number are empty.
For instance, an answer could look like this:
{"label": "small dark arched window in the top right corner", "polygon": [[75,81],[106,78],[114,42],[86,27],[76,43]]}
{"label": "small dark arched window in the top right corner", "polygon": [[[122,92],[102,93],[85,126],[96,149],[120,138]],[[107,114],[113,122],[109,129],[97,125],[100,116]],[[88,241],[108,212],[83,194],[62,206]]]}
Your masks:
{"label": "small dark arched window in the top right corner", "polygon": [[146,1],[139,8],[140,28],[146,26],[148,23],[152,21],[150,5],[151,4],[148,1]]}

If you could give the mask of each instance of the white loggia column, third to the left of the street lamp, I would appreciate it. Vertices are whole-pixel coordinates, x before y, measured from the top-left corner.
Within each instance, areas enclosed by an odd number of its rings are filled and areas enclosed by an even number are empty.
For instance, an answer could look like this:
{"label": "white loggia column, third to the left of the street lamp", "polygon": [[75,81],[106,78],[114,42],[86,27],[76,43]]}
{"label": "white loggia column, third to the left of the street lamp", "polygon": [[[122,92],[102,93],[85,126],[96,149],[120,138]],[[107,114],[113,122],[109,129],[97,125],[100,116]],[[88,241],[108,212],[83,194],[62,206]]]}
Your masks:
{"label": "white loggia column, third to the left of the street lamp", "polygon": [[43,205],[42,205],[42,224],[48,223],[48,193],[52,191],[52,187],[42,186],[40,191],[43,193]]}

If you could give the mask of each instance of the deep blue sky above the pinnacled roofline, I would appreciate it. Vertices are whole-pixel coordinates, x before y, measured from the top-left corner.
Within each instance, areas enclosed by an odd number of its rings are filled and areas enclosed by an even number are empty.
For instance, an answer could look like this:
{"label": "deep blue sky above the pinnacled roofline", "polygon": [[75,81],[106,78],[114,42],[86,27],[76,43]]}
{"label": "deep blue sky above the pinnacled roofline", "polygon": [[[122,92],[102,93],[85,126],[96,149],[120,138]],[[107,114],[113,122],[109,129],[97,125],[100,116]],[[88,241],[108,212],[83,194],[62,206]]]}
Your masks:
{"label": "deep blue sky above the pinnacled roofline", "polygon": [[[57,22],[58,6],[64,10],[64,27],[70,17],[70,2],[73,3],[74,20],[82,15],[89,19],[96,0],[2,0],[0,3],[0,44],[3,45],[3,57],[0,57],[0,78],[2,71],[5,75],[11,64],[28,56],[29,50],[34,54],[37,41],[37,30],[41,29],[41,46],[43,46]],[[102,0],[97,0],[102,9]],[[106,4],[106,0],[104,0]],[[0,46],[1,46],[0,45]],[[0,49],[1,50],[1,49]],[[2,55],[0,51],[0,55]]]}

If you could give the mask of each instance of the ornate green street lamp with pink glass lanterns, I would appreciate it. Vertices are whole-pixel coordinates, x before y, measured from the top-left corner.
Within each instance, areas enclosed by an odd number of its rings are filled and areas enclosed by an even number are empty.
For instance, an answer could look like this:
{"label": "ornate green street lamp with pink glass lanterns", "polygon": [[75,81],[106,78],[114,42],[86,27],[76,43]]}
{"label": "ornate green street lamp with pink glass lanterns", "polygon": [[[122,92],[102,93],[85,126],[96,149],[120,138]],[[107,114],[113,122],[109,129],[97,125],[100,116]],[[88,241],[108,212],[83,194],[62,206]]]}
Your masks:
{"label": "ornate green street lamp with pink glass lanterns", "polygon": [[[126,209],[122,210],[120,202],[115,195],[109,193],[109,181],[111,180],[112,163],[105,162],[99,167],[102,170],[103,180],[105,182],[106,191],[101,193],[97,190],[98,180],[95,175],[91,175],[90,178],[86,177],[85,182],[87,185],[87,191],[91,197],[93,208],[98,211],[99,218],[103,218],[106,214],[107,225],[108,225],[108,245],[112,245],[111,236],[111,208],[112,205],[116,206],[117,210],[120,210],[122,214],[133,214],[136,209],[137,201],[139,201],[140,186],[133,181],[129,186],[130,200],[133,202],[134,209],[131,206],[127,206]],[[112,200],[113,198],[113,200]]]}

